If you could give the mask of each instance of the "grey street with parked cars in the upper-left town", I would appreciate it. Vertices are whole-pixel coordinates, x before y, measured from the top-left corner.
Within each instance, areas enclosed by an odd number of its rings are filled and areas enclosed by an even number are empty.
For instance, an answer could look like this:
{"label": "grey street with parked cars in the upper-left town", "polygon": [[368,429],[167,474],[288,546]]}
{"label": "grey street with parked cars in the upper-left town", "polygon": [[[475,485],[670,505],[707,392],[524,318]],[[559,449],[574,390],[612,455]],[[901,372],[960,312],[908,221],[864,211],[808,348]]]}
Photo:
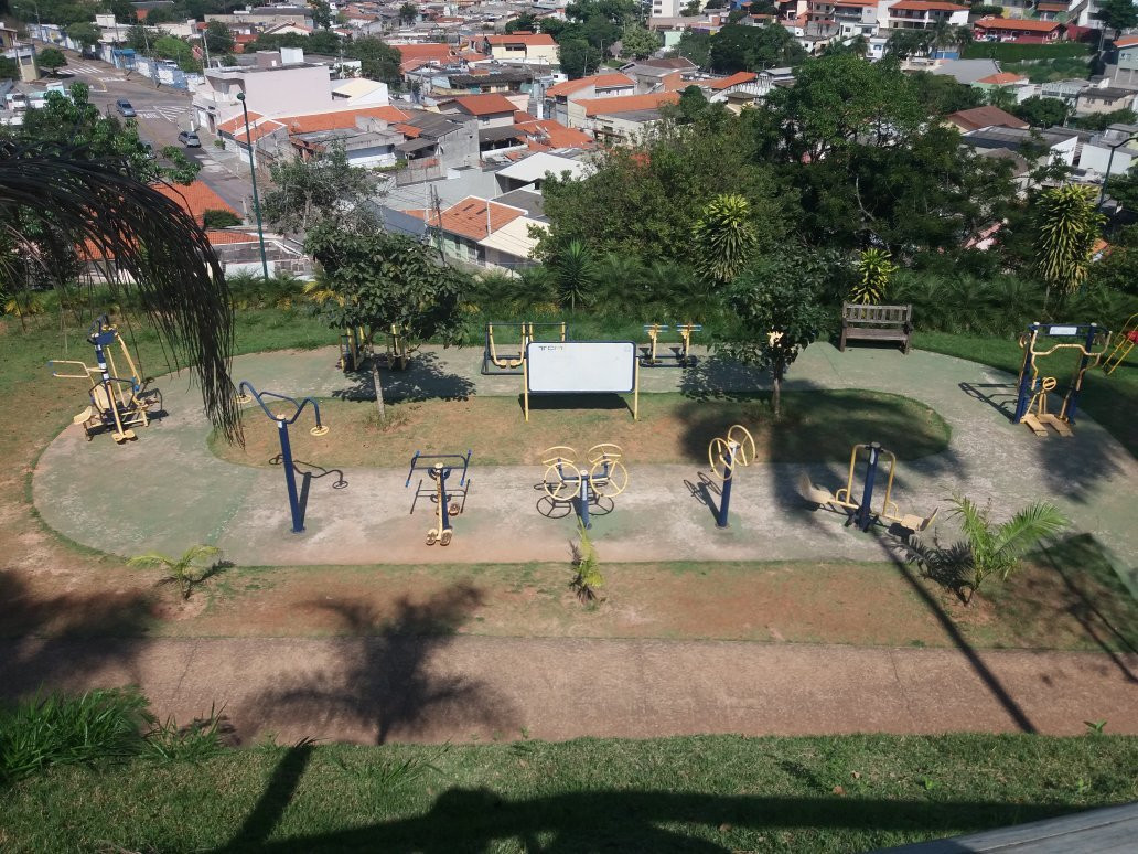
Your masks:
{"label": "grey street with parked cars in the upper-left town", "polygon": [[[201,133],[201,148],[183,148],[178,141],[179,131],[192,126],[189,92],[167,87],[159,89],[146,77],[131,75],[98,59],[65,52],[67,66],[61,71],[73,75],[65,84],[76,82],[90,87],[91,102],[104,113],[117,115],[115,101],[129,100],[138,113],[139,137],[151,142],[159,156],[165,146],[178,146],[187,157],[201,164],[199,180],[232,205],[238,214],[246,215],[253,196],[248,164],[232,154],[218,153],[207,133]],[[222,159],[228,165],[223,165]],[[237,169],[237,174],[231,169]]]}

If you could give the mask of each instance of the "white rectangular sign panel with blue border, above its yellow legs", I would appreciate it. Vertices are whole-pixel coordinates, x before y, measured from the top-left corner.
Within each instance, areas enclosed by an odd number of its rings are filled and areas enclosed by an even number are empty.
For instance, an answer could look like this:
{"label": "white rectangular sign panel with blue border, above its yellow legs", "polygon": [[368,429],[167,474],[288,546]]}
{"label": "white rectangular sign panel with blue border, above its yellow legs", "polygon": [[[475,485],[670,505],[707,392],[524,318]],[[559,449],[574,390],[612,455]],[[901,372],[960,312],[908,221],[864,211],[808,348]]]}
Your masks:
{"label": "white rectangular sign panel with blue border, above its yellow legs", "polygon": [[530,342],[528,391],[626,394],[636,388],[636,355],[630,340]]}

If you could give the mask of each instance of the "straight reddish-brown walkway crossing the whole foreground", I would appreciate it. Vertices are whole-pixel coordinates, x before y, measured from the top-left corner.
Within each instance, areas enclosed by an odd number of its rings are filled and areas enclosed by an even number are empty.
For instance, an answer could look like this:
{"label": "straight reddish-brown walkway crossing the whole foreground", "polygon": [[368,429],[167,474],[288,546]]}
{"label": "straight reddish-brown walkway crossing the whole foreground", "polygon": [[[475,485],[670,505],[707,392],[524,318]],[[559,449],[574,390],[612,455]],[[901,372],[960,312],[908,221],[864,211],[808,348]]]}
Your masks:
{"label": "straight reddish-brown walkway crossing the whole foreground", "polygon": [[1138,656],[485,637],[0,641],[0,693],[139,684],[246,741],[1138,733]]}

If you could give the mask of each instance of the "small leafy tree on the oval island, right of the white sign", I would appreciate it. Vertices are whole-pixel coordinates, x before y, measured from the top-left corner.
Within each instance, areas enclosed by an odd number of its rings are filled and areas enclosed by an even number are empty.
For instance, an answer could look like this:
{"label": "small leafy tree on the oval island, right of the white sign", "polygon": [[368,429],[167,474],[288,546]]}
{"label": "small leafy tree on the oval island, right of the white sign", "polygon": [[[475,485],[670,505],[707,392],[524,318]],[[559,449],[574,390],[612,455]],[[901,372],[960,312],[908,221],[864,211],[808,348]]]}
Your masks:
{"label": "small leafy tree on the oval island, right of the white sign", "polygon": [[770,371],[776,418],[782,414],[786,369],[818,339],[830,318],[830,307],[819,298],[828,276],[817,256],[795,253],[759,260],[727,288],[728,309],[745,331],[721,350]]}

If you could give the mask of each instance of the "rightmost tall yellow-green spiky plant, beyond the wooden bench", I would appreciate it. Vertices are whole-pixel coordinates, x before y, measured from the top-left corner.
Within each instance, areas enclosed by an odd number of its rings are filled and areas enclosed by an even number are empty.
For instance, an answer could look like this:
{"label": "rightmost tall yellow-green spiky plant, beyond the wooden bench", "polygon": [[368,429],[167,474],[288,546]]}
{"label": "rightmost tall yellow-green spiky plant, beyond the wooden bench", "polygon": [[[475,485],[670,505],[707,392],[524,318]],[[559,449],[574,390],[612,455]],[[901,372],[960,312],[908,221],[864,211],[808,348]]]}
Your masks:
{"label": "rightmost tall yellow-green spiky plant, beyond the wooden bench", "polygon": [[1106,221],[1095,210],[1095,190],[1079,184],[1053,187],[1036,202],[1036,269],[1047,286],[1044,309],[1056,287],[1064,296],[1087,279],[1098,231]]}

